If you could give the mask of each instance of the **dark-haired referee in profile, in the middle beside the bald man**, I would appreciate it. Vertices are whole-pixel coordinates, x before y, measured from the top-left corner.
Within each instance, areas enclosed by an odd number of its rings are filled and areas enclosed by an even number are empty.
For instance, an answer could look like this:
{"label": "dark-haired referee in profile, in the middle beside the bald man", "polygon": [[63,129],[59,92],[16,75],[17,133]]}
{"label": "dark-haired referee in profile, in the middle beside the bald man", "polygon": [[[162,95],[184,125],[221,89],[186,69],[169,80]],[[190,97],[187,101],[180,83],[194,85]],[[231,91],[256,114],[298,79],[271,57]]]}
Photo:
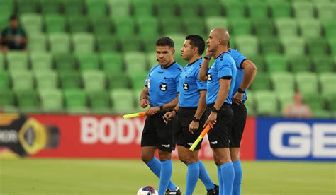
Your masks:
{"label": "dark-haired referee in profile, in the middle beside the bald man", "polygon": [[179,104],[172,112],[164,115],[165,121],[169,122],[178,111],[177,128],[174,134],[177,138],[179,159],[188,165],[186,195],[193,194],[198,177],[205,185],[207,194],[218,194],[218,186],[213,184],[203,162],[198,160],[201,143],[198,143],[194,151],[189,150],[201,134],[205,122],[203,112],[206,109],[206,81],[200,81],[198,78],[204,47],[204,40],[199,35],[188,35],[184,40],[181,55],[188,64],[179,78]]}

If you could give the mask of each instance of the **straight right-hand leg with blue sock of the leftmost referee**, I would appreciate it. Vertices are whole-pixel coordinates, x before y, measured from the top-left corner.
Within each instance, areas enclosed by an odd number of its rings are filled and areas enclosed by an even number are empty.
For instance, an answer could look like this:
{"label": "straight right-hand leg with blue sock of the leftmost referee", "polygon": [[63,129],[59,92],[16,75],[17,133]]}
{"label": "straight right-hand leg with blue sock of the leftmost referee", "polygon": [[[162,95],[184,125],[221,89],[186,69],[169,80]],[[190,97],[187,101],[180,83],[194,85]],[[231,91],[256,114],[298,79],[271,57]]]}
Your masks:
{"label": "straight right-hand leg with blue sock of the leftmost referee", "polygon": [[172,177],[172,152],[159,150],[159,160],[161,161],[161,172],[159,176],[159,195],[163,195]]}

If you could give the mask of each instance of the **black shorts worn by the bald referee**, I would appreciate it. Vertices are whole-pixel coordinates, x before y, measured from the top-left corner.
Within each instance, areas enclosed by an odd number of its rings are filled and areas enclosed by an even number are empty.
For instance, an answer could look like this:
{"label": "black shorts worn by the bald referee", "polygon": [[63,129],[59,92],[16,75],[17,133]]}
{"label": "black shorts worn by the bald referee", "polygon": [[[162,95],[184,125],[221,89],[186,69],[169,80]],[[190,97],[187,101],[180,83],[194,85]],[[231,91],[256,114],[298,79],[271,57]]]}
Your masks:
{"label": "black shorts worn by the bald referee", "polygon": [[[208,105],[206,108],[205,117],[211,114],[213,105]],[[233,120],[233,110],[231,106],[224,103],[217,113],[217,122],[210,131],[208,131],[208,138],[211,148],[229,148],[230,147],[230,131]]]}

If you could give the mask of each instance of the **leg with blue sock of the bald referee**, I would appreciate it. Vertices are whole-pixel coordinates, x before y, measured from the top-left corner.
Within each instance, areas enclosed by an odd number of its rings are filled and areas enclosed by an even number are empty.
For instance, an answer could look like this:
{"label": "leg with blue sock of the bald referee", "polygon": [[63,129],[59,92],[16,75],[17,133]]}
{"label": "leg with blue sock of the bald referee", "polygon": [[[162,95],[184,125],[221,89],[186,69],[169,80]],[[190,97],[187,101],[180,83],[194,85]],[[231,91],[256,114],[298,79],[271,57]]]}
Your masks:
{"label": "leg with blue sock of the bald referee", "polygon": [[229,148],[213,148],[213,158],[216,165],[220,168],[220,176],[222,182],[220,184],[223,194],[231,195],[233,192],[233,179],[235,178],[235,170],[230,158]]}

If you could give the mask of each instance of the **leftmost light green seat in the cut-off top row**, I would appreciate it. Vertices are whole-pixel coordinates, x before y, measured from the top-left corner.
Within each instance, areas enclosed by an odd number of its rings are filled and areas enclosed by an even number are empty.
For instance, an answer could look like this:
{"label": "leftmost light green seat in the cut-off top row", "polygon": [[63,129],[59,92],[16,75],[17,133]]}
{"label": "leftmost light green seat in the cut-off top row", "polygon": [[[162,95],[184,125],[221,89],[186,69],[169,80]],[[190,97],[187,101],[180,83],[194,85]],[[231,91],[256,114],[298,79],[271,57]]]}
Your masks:
{"label": "leftmost light green seat in the cut-off top row", "polygon": [[130,1],[107,0],[111,18],[127,18],[130,15]]}

